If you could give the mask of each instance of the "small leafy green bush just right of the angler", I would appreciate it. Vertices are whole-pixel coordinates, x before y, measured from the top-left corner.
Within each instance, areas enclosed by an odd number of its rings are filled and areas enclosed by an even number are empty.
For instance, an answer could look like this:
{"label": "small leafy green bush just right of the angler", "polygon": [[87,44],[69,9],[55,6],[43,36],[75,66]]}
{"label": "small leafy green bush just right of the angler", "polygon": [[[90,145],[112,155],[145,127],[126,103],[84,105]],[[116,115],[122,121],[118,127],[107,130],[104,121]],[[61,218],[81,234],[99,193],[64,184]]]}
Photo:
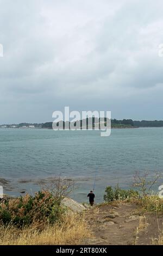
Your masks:
{"label": "small leafy green bush just right of the angler", "polygon": [[114,189],[111,186],[106,187],[105,193],[105,202],[111,202],[114,200],[126,200],[139,197],[139,192],[135,190],[122,190],[120,187],[118,187],[118,185]]}

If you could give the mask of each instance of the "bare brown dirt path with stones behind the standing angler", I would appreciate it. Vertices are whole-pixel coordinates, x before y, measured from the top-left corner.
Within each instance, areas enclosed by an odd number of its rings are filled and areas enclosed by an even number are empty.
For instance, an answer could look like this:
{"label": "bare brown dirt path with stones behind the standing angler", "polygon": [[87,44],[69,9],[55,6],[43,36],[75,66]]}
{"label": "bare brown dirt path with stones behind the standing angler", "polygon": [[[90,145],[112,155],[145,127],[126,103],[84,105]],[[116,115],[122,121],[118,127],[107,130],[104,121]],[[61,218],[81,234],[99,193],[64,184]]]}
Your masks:
{"label": "bare brown dirt path with stones behind the standing angler", "polygon": [[[136,204],[101,205],[85,214],[92,237],[85,245],[151,245],[162,229],[163,216],[140,214]],[[159,228],[158,228],[159,225]]]}

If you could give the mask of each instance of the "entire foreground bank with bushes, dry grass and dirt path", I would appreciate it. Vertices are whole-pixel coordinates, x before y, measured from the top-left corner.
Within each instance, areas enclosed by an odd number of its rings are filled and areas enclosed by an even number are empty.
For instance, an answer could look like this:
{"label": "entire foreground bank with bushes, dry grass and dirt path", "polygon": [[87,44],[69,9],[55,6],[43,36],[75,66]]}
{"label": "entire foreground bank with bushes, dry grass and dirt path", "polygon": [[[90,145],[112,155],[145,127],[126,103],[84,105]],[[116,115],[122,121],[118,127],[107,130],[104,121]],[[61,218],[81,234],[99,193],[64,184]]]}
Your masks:
{"label": "entire foreground bank with bushes, dry grass and dirt path", "polygon": [[162,245],[163,199],[153,192],[159,178],[159,174],[136,173],[134,188],[108,186],[103,203],[79,204],[80,212],[63,204],[73,182],[60,177],[34,195],[4,198],[0,202],[1,244]]}

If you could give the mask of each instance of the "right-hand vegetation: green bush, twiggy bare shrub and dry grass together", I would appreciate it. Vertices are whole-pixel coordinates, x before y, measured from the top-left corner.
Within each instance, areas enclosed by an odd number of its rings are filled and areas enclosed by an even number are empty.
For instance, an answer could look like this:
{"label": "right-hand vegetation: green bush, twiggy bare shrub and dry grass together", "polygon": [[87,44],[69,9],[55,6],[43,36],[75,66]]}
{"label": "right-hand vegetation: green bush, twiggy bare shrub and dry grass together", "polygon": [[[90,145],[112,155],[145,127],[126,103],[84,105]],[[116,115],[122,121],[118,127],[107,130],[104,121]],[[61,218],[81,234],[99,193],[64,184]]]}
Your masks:
{"label": "right-hand vegetation: green bush, twiggy bare shrub and dry grass together", "polygon": [[134,189],[124,190],[119,185],[115,188],[108,186],[105,188],[104,201],[106,203],[115,201],[136,202],[149,212],[163,214],[163,199],[153,189],[161,178],[162,174],[160,173],[154,173],[150,176],[148,172],[136,172],[132,184]]}

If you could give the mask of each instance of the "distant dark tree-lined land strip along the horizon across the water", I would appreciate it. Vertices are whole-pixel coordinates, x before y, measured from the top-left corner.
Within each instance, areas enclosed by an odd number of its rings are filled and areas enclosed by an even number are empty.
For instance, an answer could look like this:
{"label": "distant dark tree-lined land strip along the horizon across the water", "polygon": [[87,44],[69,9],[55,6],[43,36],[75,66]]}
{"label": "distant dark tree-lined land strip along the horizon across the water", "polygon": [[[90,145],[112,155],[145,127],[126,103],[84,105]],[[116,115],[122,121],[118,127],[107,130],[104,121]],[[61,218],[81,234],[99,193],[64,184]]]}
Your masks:
{"label": "distant dark tree-lined land strip along the horizon across the water", "polygon": [[[88,129],[88,118],[85,120],[79,120],[78,124],[82,127],[82,123],[85,123],[85,129]],[[96,124],[99,123],[98,118],[93,117],[92,118],[92,126],[95,127]],[[106,118],[105,118],[106,122]],[[0,125],[0,128],[29,128],[29,129],[52,129],[52,122],[47,123],[20,123],[20,124],[2,124]],[[65,127],[65,122],[63,122],[63,127]],[[163,127],[163,120],[142,120],[142,121],[134,121],[132,119],[123,119],[123,120],[117,120],[117,119],[111,119],[111,128],[139,128],[139,127]]]}

